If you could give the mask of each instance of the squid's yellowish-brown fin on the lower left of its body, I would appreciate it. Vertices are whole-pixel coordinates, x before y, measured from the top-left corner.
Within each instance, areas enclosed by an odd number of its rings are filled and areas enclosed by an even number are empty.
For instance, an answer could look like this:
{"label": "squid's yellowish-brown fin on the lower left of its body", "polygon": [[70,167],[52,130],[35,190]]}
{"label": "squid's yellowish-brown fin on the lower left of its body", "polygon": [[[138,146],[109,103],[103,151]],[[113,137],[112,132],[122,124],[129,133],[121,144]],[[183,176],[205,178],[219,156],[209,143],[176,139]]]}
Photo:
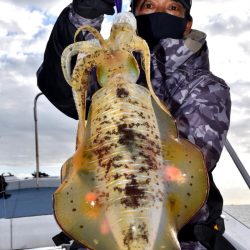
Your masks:
{"label": "squid's yellowish-brown fin on the lower left of its body", "polygon": [[65,179],[54,193],[56,220],[67,235],[90,249],[118,249],[105,208],[98,204],[93,178],[92,173],[78,170]]}

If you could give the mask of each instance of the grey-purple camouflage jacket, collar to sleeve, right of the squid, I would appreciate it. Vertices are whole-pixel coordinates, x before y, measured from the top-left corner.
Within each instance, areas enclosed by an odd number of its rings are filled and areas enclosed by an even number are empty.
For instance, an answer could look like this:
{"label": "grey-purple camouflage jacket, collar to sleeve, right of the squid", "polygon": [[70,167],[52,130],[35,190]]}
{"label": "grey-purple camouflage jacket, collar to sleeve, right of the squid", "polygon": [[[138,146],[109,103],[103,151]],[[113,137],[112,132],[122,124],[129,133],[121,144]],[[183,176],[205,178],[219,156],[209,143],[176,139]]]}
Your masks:
{"label": "grey-purple camouflage jacket, collar to sleeve, right of the squid", "polygon": [[209,71],[205,34],[164,39],[151,56],[151,81],[176,119],[180,136],[202,150],[211,171],[219,160],[230,121],[227,84]]}

